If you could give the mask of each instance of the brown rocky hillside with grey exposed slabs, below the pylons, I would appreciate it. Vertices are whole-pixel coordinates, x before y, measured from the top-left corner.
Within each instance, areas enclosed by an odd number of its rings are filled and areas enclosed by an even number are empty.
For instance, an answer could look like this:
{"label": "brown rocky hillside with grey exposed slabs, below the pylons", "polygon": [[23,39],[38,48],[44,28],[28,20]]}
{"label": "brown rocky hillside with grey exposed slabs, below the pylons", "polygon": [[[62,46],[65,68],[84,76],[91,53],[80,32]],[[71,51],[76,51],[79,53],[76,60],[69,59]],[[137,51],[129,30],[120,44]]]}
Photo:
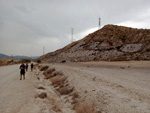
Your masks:
{"label": "brown rocky hillside with grey exposed slabs, below the pylons", "polygon": [[150,60],[150,30],[106,25],[39,59],[46,62]]}

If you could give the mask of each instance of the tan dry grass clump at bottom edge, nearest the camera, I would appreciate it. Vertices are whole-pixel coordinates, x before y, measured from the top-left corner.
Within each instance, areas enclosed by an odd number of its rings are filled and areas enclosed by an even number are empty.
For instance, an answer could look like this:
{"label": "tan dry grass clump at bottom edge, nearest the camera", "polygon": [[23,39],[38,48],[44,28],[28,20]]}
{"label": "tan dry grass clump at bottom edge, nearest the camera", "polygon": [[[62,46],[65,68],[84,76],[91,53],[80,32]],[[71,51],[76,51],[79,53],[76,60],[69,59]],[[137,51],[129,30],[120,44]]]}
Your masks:
{"label": "tan dry grass clump at bottom edge, nearest the camera", "polygon": [[78,104],[75,107],[76,113],[96,113],[94,105],[90,102]]}

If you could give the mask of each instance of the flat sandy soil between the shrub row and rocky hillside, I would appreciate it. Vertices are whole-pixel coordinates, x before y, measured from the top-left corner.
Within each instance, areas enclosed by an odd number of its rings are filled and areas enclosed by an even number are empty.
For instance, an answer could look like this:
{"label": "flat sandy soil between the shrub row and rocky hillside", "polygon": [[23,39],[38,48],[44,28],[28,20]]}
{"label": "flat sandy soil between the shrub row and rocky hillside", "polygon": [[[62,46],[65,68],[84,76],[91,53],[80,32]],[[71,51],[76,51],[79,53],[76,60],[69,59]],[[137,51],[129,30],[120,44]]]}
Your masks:
{"label": "flat sandy soil between the shrub row and rocky hillside", "polygon": [[150,113],[150,62],[51,64],[104,113]]}

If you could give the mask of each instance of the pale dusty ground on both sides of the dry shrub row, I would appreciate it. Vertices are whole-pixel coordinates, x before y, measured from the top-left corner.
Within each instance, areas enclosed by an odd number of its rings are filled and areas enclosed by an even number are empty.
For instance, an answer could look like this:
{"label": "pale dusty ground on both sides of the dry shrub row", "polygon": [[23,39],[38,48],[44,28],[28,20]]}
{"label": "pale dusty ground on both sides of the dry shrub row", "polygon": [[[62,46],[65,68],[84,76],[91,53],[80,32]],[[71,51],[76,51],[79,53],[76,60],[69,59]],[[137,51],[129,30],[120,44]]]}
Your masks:
{"label": "pale dusty ground on both sides of the dry shrub row", "polygon": [[[150,62],[42,64],[68,76],[82,102],[103,113],[150,113]],[[19,80],[19,65],[0,67],[0,113],[74,113],[38,69]],[[38,78],[38,79],[37,79]],[[38,89],[39,86],[45,89]],[[38,98],[45,92],[47,97]]]}

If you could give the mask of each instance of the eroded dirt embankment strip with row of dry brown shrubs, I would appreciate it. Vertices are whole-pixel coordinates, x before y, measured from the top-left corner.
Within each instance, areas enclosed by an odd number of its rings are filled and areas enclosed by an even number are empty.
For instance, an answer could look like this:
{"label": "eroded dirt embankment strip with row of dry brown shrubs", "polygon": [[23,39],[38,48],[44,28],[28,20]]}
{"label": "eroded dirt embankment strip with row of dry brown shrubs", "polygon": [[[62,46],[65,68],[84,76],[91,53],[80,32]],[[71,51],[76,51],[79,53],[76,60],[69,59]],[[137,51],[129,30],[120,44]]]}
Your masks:
{"label": "eroded dirt embankment strip with row of dry brown shrubs", "polygon": [[40,86],[35,98],[46,99],[53,112],[86,113],[88,111],[89,113],[98,113],[93,103],[80,100],[76,89],[68,82],[68,76],[64,75],[62,71],[57,71],[48,65],[38,65],[38,69],[36,77]]}

